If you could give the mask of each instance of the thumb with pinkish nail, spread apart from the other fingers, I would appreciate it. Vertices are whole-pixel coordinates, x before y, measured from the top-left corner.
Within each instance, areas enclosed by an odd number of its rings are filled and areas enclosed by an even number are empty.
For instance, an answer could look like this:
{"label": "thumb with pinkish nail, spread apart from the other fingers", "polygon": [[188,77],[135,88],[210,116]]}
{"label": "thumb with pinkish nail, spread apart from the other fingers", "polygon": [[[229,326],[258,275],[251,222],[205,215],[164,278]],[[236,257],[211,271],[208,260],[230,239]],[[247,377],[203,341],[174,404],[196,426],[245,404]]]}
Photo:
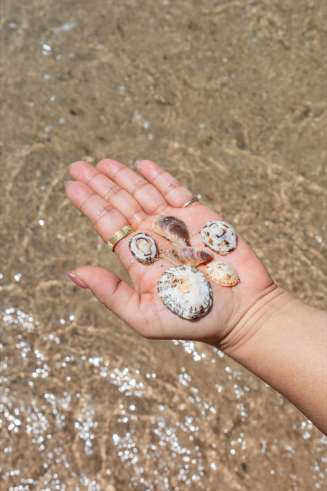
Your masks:
{"label": "thumb with pinkish nail, spread apart from the other fingers", "polygon": [[140,331],[140,295],[113,272],[99,266],[82,266],[66,273],[81,288],[89,288],[101,304],[120,317],[135,331]]}

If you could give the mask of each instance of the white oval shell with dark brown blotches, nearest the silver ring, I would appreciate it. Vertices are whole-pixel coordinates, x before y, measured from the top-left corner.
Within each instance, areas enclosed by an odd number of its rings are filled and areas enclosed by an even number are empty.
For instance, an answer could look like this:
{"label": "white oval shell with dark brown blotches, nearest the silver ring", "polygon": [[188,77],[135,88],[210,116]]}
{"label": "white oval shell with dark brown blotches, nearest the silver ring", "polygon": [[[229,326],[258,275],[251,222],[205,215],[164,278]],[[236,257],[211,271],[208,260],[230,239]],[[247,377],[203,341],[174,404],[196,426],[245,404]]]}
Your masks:
{"label": "white oval shell with dark brown blotches, nearest the silver ring", "polygon": [[209,221],[201,231],[202,240],[209,248],[222,256],[236,248],[236,232],[232,225],[225,221]]}

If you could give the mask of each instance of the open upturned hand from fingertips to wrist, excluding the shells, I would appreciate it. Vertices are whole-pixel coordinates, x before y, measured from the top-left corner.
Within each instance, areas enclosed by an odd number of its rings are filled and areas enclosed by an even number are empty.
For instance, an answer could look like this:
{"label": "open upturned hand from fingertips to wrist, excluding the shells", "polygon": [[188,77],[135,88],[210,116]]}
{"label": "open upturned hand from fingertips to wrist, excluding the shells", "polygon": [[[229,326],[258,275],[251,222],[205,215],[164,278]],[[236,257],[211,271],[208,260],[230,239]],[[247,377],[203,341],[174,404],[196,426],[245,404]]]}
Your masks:
{"label": "open upturned hand from fingertips to wrist, excluding the shells", "polygon": [[[156,163],[141,160],[137,169],[145,179],[110,159],[101,160],[96,167],[82,161],[71,165],[74,181],[66,185],[68,198],[90,219],[102,239],[109,241],[124,225],[130,224],[135,231],[115,246],[115,253],[129,272],[134,288],[97,266],[83,266],[75,273],[100,302],[145,337],[219,344],[239,326],[256,300],[272,288],[272,279],[250,246],[237,234],[236,249],[225,257],[214,253],[214,261],[233,266],[239,273],[239,284],[226,288],[210,281],[213,306],[207,315],[196,320],[171,313],[158,296],[157,282],[162,272],[173,265],[165,259],[149,266],[139,263],[129,251],[131,237],[136,232],[147,232],[156,240],[160,252],[171,248],[169,241],[152,230],[156,216],[169,214],[186,223],[191,246],[203,248],[200,235],[203,225],[222,217],[198,202],[182,208],[193,195]],[[205,266],[198,266],[198,270],[204,271]]]}

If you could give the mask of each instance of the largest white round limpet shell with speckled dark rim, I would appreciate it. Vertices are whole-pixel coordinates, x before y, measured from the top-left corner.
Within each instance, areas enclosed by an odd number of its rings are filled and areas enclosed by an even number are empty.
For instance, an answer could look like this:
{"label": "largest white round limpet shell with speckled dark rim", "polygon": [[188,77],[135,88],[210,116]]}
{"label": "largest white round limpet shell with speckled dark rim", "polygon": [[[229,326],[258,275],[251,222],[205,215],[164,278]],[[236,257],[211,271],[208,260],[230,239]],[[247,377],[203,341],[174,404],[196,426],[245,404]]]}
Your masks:
{"label": "largest white round limpet shell with speckled dark rim", "polygon": [[174,314],[197,319],[212,306],[212,288],[202,272],[191,266],[173,266],[161,275],[158,294]]}

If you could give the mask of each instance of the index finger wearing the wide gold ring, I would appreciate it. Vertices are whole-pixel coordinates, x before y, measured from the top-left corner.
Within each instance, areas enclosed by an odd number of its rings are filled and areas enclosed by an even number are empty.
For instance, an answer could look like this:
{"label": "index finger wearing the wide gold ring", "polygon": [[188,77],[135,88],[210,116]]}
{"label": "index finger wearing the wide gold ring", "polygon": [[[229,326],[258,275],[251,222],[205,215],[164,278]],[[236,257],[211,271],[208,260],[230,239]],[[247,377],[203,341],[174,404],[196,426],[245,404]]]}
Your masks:
{"label": "index finger wearing the wide gold ring", "polygon": [[[66,193],[73,205],[88,218],[97,233],[108,242],[115,232],[118,232],[125,225],[129,225],[124,215],[115,207],[107,203],[101,196],[96,194],[93,189],[79,181],[71,181],[66,184]],[[127,235],[115,246],[124,267],[129,270],[131,267],[130,254],[127,254],[129,239]]]}

